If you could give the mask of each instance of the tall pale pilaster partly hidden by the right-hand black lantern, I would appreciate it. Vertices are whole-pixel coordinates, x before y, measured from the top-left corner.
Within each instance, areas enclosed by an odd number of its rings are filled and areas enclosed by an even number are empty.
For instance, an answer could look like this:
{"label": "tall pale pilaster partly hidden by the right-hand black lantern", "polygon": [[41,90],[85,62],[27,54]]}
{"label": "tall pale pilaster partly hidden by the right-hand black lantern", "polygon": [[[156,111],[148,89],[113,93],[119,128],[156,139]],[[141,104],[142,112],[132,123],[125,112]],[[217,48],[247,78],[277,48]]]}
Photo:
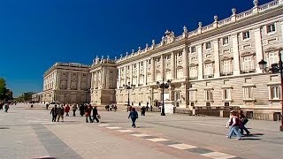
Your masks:
{"label": "tall pale pilaster partly hidden by the right-hand black lantern", "polygon": [[259,27],[255,29],[255,42],[256,42],[256,72],[263,72],[259,68],[259,64],[257,64],[264,57],[264,55],[263,55],[263,42],[262,42],[262,36],[261,36]]}

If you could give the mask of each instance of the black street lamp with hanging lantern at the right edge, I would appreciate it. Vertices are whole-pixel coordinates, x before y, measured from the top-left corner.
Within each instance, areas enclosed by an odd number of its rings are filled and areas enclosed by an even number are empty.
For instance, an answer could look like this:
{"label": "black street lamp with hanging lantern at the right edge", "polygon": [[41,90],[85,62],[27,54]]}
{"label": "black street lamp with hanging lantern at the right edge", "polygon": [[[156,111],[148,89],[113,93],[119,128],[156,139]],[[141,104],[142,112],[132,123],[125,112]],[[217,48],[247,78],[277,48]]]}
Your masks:
{"label": "black street lamp with hanging lantern at the right edge", "polygon": [[[283,68],[282,68],[282,59],[281,59],[281,50],[279,49],[279,71],[280,71],[280,87],[281,87],[281,125],[280,125],[280,131],[283,132]],[[266,62],[264,61],[264,59],[262,59],[259,63],[259,67],[262,70],[265,70],[266,68]],[[274,70],[274,68],[272,68],[272,71]]]}

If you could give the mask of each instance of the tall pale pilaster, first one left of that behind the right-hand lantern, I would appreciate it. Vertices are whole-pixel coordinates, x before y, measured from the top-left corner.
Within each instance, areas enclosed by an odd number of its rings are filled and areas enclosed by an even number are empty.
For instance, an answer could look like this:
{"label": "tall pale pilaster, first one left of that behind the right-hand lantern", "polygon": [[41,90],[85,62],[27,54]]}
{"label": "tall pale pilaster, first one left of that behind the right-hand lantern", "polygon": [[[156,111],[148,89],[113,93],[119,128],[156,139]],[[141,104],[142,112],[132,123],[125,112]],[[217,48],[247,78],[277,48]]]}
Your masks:
{"label": "tall pale pilaster, first one left of that behind the right-hand lantern", "polygon": [[239,44],[238,44],[238,34],[232,35],[233,42],[233,75],[240,74],[240,57],[239,57]]}

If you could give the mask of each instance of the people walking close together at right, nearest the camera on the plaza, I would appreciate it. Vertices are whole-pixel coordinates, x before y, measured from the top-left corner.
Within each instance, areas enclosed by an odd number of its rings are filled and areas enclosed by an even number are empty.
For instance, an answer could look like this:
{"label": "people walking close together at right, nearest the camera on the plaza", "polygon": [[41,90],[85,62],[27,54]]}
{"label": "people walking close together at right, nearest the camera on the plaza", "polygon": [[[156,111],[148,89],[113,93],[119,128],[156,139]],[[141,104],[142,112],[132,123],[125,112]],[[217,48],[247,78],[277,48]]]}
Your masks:
{"label": "people walking close together at right, nearest the camera on the plaza", "polygon": [[250,134],[249,130],[246,128],[246,124],[249,122],[249,119],[245,117],[242,110],[230,111],[229,120],[226,123],[226,127],[230,127],[229,132],[227,133],[227,138],[231,138],[233,134],[237,136],[237,140],[241,140],[241,136],[244,135],[244,131],[247,135]]}

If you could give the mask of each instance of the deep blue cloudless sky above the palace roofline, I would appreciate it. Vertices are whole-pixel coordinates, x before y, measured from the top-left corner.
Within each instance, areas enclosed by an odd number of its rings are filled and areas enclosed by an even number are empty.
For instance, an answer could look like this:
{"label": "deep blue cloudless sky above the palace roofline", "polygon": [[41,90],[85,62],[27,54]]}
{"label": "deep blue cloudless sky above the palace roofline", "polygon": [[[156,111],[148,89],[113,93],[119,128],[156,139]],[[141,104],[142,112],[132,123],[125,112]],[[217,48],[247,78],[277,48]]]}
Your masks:
{"label": "deep blue cloudless sky above the palace roofline", "polygon": [[[265,4],[270,0],[259,0]],[[91,64],[98,55],[160,42],[253,7],[252,0],[1,0],[0,77],[15,96],[42,91],[42,74],[56,62]]]}

